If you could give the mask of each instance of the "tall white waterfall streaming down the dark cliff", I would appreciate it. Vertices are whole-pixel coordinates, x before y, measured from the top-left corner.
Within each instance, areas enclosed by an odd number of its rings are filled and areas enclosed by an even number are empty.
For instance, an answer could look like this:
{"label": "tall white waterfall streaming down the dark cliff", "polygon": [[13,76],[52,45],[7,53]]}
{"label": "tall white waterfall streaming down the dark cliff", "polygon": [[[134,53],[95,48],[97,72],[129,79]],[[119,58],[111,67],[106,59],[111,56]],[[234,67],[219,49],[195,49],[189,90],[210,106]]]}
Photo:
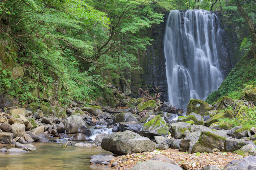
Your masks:
{"label": "tall white waterfall streaming down the dark cliff", "polygon": [[205,100],[223,81],[219,69],[221,25],[206,10],[172,10],[164,35],[169,102],[186,109],[189,100]]}

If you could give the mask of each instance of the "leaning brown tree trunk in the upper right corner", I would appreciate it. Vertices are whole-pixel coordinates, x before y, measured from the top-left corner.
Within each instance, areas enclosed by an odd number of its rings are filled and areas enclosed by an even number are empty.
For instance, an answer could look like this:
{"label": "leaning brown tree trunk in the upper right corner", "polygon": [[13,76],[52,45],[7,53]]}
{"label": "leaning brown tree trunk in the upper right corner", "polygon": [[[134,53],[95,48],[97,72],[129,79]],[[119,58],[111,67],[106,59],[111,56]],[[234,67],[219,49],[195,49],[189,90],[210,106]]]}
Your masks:
{"label": "leaning brown tree trunk in the upper right corner", "polygon": [[251,19],[248,17],[247,12],[242,8],[239,0],[236,0],[236,6],[237,6],[239,12],[241,13],[242,17],[245,19],[245,21],[248,24],[248,29],[249,29],[249,32],[251,35],[251,42],[253,44],[256,44],[256,34],[254,31],[254,25],[252,24]]}

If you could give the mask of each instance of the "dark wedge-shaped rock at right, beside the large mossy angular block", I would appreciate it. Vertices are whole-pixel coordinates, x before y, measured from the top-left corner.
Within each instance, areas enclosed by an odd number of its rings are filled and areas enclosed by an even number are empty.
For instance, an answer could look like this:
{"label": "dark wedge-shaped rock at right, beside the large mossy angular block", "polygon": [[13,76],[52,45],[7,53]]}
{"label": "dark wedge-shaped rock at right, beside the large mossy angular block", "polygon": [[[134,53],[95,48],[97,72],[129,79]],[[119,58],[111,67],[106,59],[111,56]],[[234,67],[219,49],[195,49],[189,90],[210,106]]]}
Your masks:
{"label": "dark wedge-shaped rock at right, beside the large mossy angular block", "polygon": [[233,152],[237,149],[240,149],[242,146],[246,144],[253,144],[252,142],[249,141],[244,141],[244,140],[237,140],[237,139],[231,139],[231,138],[226,138],[225,143],[224,143],[224,151],[225,152]]}

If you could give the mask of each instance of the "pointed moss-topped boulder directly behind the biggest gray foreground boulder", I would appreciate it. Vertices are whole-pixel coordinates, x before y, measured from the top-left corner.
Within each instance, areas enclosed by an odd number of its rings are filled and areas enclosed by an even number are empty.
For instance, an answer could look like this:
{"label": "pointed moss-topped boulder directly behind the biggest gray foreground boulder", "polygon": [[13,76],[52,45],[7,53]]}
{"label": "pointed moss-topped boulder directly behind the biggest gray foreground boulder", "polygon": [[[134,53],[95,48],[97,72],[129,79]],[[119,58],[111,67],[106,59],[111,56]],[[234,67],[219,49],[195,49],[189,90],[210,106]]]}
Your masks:
{"label": "pointed moss-topped boulder directly behind the biggest gray foreground boulder", "polygon": [[138,133],[141,136],[147,136],[149,139],[154,138],[154,136],[167,137],[170,134],[167,123],[159,115],[145,123]]}

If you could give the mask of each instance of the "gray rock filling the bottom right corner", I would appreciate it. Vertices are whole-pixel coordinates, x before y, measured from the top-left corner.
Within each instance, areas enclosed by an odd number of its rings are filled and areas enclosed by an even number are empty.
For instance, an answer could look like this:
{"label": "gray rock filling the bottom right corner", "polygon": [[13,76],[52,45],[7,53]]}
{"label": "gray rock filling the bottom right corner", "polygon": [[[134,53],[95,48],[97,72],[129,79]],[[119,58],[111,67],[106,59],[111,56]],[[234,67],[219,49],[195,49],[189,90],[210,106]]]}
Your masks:
{"label": "gray rock filling the bottom right corner", "polygon": [[247,156],[243,159],[229,162],[223,170],[255,170],[256,156]]}

